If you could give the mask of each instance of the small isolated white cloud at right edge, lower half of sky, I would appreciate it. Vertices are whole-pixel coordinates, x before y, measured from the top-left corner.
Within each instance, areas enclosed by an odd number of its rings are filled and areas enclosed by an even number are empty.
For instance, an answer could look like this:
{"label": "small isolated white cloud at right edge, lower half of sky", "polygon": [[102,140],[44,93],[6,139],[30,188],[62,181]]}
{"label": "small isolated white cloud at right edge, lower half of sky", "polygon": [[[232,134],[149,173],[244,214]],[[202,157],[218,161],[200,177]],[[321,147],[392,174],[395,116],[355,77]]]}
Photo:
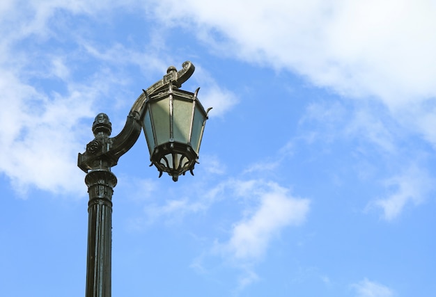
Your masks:
{"label": "small isolated white cloud at right edge, lower half of sky", "polygon": [[428,173],[412,165],[400,175],[387,179],[384,185],[391,191],[386,198],[380,198],[368,204],[367,209],[381,208],[385,220],[397,218],[408,203],[420,204],[428,192],[434,188],[434,180]]}

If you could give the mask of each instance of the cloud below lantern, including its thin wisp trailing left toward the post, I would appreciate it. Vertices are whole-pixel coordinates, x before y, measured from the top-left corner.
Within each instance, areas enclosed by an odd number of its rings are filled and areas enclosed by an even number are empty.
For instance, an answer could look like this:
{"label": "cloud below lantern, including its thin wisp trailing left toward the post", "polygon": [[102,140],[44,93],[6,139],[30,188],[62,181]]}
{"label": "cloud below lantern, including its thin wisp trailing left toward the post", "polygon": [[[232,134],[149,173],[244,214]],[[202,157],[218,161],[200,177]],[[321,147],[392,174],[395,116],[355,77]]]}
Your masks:
{"label": "cloud below lantern, including its thin wisp trailing left toward the post", "polygon": [[[210,186],[210,185],[209,185]],[[206,258],[219,257],[226,265],[240,271],[238,287],[242,289],[260,277],[256,264],[267,255],[272,242],[289,227],[302,225],[310,210],[310,200],[298,198],[288,188],[262,179],[226,179],[216,186],[198,184],[178,191],[178,198],[147,200],[141,216],[130,220],[132,230],[141,230],[153,223],[180,224],[186,218],[215,213],[221,203],[234,205],[219,218],[220,239],[203,239],[205,251],[192,262],[199,273],[208,273]],[[225,222],[225,223],[224,223]],[[206,243],[204,242],[207,241]]]}

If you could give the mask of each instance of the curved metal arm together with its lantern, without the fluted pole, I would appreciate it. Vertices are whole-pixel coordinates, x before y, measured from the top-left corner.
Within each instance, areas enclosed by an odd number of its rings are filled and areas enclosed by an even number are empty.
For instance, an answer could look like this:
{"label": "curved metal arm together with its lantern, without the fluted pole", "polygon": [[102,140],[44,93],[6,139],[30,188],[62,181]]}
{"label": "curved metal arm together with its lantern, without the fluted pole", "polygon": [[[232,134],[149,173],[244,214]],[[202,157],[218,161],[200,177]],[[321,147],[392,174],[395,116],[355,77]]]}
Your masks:
{"label": "curved metal arm together with its lantern, without the fluted pole", "polygon": [[[182,64],[180,71],[169,67],[163,79],[139,95],[118,136],[101,138],[95,134],[86,152],[79,154],[79,168],[88,172],[93,167],[93,161],[101,159],[102,155],[107,157],[111,166],[115,166],[120,156],[136,143],[143,130],[150,152],[150,166],[156,166],[159,177],[166,172],[177,182],[178,177],[187,171],[194,175],[205,122],[212,109],[205,111],[198,100],[200,88],[194,93],[180,90],[194,70],[189,61]],[[107,115],[104,116],[107,118]],[[104,118],[103,114],[98,117]],[[105,122],[99,129],[109,129],[109,125]]]}

